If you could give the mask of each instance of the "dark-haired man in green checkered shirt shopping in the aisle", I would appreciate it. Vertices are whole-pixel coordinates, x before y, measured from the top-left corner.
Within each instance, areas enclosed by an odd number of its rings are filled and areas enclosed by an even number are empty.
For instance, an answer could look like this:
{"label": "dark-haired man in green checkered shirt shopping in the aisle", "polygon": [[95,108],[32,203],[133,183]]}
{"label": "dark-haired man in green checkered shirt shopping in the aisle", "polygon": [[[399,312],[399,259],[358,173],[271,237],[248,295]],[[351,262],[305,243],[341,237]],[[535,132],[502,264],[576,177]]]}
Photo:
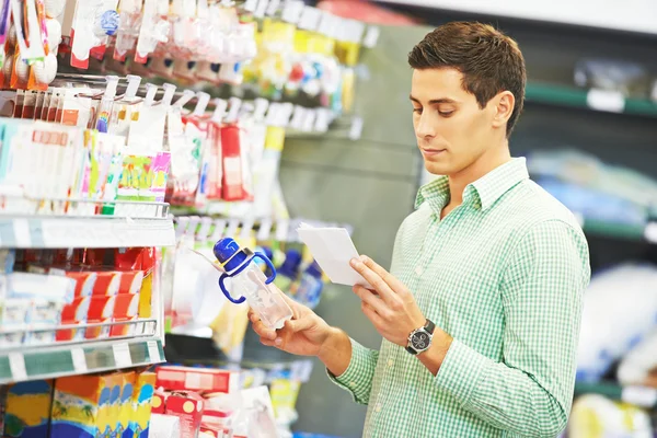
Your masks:
{"label": "dark-haired man in green checkered shirt shopping in the aisle", "polygon": [[[391,274],[351,262],[355,287],[383,336],[371,350],[292,303],[278,333],[252,315],[265,345],[319,357],[369,404],[367,437],[555,437],[568,418],[581,296],[584,234],[511,159],[522,110],[517,44],[479,23],[449,23],[408,56],[411,102],[426,169],[401,226]],[[291,302],[291,301],[290,301]]]}

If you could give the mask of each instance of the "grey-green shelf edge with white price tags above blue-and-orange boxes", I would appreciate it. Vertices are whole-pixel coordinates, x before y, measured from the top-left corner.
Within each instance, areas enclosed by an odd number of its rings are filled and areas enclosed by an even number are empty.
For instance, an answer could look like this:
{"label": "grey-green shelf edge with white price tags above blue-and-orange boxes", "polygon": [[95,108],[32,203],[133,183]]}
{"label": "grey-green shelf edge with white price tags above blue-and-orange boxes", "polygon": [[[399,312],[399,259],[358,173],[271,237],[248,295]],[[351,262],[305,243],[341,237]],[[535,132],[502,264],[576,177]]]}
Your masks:
{"label": "grey-green shelf edge with white price tags above blue-and-orange boxes", "polygon": [[0,384],[163,362],[158,337],[18,347],[0,351]]}

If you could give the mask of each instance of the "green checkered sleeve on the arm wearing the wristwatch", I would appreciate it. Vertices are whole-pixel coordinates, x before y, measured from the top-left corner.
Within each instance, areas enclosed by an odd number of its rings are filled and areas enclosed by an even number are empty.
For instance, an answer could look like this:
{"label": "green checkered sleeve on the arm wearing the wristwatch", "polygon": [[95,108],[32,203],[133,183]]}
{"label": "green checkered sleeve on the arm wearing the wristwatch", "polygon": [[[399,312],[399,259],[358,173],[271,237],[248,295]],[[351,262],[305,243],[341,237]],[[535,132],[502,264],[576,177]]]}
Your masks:
{"label": "green checkered sleeve on the arm wearing the wristwatch", "polygon": [[558,220],[532,227],[509,255],[502,283],[503,360],[454,339],[436,376],[438,388],[495,427],[556,436],[570,411],[589,278],[580,230]]}

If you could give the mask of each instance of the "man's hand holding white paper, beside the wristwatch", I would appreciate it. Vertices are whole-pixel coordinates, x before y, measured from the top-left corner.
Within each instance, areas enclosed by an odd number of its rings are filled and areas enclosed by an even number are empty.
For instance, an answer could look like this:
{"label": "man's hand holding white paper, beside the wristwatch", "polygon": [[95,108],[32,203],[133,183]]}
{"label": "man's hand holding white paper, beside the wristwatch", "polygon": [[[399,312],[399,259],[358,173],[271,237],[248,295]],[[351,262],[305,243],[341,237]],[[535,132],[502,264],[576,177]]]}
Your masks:
{"label": "man's hand holding white paper, beside the wristwatch", "polygon": [[360,298],[362,313],[374,324],[377,331],[396,345],[408,345],[408,335],[425,325],[426,319],[415,302],[413,293],[392,274],[361,255],[351,260],[351,267],[373,288],[354,286]]}

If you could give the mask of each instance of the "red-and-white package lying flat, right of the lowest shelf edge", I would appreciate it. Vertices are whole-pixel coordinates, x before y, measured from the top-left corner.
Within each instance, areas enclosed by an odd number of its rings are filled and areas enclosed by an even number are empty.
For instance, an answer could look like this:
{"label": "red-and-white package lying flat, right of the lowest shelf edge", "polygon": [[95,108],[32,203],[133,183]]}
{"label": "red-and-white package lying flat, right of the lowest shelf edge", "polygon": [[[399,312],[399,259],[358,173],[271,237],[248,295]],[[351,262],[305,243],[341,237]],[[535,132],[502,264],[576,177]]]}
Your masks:
{"label": "red-and-white package lying flat, right of the lowest shelf edge", "polygon": [[232,393],[239,389],[240,374],[215,368],[158,367],[157,385],[170,391]]}

